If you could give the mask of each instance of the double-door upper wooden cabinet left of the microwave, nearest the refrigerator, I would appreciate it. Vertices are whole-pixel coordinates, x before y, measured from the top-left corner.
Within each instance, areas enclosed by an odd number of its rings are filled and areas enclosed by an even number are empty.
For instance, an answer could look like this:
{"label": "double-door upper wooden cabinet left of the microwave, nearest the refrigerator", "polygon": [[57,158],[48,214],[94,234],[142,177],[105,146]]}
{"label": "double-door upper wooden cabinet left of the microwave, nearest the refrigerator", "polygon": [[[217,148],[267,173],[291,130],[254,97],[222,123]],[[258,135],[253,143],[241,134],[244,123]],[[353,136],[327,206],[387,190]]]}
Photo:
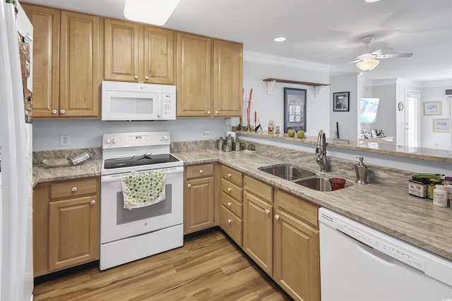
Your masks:
{"label": "double-door upper wooden cabinet left of the microwave, nearest the refrigerator", "polygon": [[102,18],[24,4],[33,25],[33,116],[99,118]]}

